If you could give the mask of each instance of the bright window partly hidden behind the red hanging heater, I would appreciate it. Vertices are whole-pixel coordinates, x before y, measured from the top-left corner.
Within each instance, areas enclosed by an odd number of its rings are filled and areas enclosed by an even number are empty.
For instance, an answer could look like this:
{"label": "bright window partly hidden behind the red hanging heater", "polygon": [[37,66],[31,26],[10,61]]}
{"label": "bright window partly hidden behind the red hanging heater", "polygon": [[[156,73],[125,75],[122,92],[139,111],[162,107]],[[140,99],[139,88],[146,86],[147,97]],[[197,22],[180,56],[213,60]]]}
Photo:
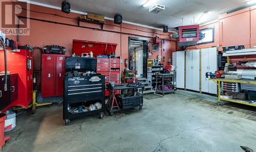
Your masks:
{"label": "bright window partly hidden behind the red hanging heater", "polygon": [[203,44],[209,44],[214,42],[214,27],[205,28],[200,30],[203,34],[205,34],[205,37],[197,42],[197,45],[203,45]]}

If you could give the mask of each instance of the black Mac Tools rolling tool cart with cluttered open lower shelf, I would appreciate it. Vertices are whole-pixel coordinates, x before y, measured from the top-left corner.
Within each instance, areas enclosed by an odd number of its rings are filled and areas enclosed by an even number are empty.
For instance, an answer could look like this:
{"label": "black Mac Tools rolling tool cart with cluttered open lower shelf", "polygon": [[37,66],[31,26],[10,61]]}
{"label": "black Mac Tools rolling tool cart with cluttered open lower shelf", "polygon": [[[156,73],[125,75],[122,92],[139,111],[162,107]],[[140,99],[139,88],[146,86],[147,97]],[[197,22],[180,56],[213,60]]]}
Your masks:
{"label": "black Mac Tools rolling tool cart with cluttered open lower shelf", "polygon": [[[105,77],[103,75],[75,76],[64,78],[63,119],[70,119],[105,111]],[[92,105],[101,104],[101,108]],[[77,108],[77,110],[76,110]],[[82,109],[79,111],[79,108]],[[79,112],[78,112],[79,111]]]}

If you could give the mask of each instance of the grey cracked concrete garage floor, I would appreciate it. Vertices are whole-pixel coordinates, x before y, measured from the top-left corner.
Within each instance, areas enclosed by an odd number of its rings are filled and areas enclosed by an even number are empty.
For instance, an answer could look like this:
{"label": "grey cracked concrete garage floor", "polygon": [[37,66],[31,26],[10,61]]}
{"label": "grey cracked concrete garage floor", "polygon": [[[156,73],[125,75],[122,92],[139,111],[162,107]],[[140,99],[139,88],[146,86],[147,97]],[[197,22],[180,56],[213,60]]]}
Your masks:
{"label": "grey cracked concrete garage floor", "polygon": [[177,91],[144,99],[143,110],[83,117],[66,126],[62,104],[23,112],[3,151],[243,151],[256,150],[256,109]]}

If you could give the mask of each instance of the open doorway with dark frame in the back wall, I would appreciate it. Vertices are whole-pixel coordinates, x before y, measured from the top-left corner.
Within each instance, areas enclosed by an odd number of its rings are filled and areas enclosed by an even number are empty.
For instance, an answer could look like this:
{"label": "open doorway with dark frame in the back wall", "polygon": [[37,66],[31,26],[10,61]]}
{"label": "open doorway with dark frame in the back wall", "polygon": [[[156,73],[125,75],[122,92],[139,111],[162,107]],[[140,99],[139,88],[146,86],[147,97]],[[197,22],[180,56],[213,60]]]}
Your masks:
{"label": "open doorway with dark frame in the back wall", "polygon": [[129,37],[129,69],[139,77],[147,77],[147,39]]}

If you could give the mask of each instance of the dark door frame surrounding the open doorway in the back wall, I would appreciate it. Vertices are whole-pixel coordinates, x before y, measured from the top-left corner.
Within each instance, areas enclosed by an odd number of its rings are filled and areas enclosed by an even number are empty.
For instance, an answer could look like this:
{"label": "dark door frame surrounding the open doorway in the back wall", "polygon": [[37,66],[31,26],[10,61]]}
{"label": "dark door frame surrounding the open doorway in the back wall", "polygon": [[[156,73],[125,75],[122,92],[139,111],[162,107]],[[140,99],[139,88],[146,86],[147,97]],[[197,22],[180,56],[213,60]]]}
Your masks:
{"label": "dark door frame surrounding the open doorway in the back wall", "polygon": [[147,77],[147,50],[148,50],[148,39],[146,38],[140,38],[140,37],[130,37],[129,36],[129,40],[128,40],[128,52],[129,52],[129,69],[131,69],[131,61],[130,61],[130,57],[131,57],[131,40],[137,40],[137,41],[142,41],[143,42],[143,77],[146,78]]}

